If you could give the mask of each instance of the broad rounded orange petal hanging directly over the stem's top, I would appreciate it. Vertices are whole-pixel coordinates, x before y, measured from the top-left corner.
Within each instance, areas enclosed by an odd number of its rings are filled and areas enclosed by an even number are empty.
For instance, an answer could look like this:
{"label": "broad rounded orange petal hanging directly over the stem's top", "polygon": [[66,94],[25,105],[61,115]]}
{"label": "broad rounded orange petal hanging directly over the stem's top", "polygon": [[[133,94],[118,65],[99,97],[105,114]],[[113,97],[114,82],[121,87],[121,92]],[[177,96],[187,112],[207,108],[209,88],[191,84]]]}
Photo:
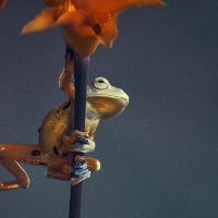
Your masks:
{"label": "broad rounded orange petal hanging directly over the stem's top", "polygon": [[66,45],[81,57],[90,56],[99,44],[98,37],[89,26],[68,25],[61,29]]}

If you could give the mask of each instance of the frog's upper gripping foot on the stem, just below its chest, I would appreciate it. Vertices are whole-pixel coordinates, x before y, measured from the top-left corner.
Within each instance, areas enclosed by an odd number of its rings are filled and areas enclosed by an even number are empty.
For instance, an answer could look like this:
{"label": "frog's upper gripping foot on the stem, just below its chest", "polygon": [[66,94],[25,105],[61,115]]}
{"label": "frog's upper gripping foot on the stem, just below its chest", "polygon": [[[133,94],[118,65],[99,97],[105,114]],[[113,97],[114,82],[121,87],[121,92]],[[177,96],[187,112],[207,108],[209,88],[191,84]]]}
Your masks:
{"label": "frog's upper gripping foot on the stem, just below its chest", "polygon": [[95,142],[88,138],[88,134],[77,130],[72,136],[64,135],[63,143],[68,152],[89,153],[95,149]]}

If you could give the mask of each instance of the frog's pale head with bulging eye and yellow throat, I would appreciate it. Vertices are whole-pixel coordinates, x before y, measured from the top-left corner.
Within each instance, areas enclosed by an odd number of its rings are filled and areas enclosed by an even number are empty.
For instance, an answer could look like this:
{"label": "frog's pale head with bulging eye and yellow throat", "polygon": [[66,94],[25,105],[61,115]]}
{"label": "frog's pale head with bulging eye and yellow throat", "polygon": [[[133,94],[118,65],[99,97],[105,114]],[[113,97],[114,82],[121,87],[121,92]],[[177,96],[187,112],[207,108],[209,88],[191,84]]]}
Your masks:
{"label": "frog's pale head with bulging eye and yellow throat", "polygon": [[106,120],[125,109],[129,96],[121,88],[111,86],[108,80],[97,77],[87,86],[87,104],[100,120]]}

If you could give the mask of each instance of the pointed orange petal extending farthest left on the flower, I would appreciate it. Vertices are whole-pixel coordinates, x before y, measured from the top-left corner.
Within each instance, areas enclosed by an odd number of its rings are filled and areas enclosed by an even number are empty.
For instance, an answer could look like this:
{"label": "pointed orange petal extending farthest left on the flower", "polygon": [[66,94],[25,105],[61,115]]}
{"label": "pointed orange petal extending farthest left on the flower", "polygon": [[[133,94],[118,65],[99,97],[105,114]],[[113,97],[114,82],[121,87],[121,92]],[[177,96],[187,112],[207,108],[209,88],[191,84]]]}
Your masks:
{"label": "pointed orange petal extending farthest left on the flower", "polygon": [[31,34],[52,27],[57,20],[57,7],[43,10],[34,20],[23,27],[21,34]]}

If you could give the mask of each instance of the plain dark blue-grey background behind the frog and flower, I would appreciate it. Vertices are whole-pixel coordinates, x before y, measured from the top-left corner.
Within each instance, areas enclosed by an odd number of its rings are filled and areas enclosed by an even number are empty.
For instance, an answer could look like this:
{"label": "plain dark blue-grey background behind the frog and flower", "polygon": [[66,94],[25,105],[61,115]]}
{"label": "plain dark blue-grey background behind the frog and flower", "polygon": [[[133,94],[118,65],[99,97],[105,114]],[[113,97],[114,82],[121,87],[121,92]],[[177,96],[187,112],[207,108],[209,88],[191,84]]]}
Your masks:
{"label": "plain dark blue-grey background behind the frog and flower", "polygon": [[[83,183],[82,218],[218,217],[218,3],[166,0],[118,21],[112,49],[90,57],[89,82],[107,77],[130,96],[95,135],[101,170]],[[45,4],[9,0],[0,14],[0,143],[37,143],[58,89],[59,27],[20,36]],[[22,165],[28,190],[0,193],[2,218],[66,218],[69,182]],[[0,169],[0,178],[12,178]]]}

